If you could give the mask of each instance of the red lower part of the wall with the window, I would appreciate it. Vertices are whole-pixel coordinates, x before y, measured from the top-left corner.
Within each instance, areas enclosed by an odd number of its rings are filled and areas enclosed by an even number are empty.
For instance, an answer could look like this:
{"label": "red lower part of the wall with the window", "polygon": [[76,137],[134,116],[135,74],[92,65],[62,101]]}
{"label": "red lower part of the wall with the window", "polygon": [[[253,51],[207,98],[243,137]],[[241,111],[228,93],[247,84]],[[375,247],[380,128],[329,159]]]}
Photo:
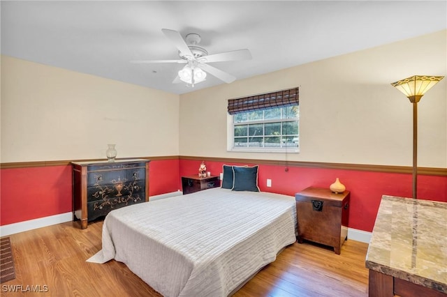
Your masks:
{"label": "red lower part of the wall with the window", "polygon": [[[205,160],[205,164],[208,172],[219,175],[224,163]],[[197,160],[180,160],[180,174],[196,174],[199,166]],[[288,167],[286,172],[284,166],[259,165],[258,185],[261,191],[295,195],[309,186],[329,188],[337,177],[351,191],[349,227],[353,229],[372,231],[382,195],[412,196],[411,174],[356,170]],[[267,179],[272,180],[271,188]],[[418,176],[418,198],[447,202],[447,177]]]}

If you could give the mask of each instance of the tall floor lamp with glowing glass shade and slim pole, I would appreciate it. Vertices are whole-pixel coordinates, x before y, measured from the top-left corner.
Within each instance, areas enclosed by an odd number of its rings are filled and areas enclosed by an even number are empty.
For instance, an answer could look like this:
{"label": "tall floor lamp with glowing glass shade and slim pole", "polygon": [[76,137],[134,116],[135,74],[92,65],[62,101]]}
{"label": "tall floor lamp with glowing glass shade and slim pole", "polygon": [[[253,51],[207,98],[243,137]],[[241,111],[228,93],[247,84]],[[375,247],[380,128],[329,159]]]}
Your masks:
{"label": "tall floor lamp with glowing glass shade and slim pole", "polygon": [[413,75],[391,85],[413,103],[413,199],[418,199],[418,102],[444,76]]}

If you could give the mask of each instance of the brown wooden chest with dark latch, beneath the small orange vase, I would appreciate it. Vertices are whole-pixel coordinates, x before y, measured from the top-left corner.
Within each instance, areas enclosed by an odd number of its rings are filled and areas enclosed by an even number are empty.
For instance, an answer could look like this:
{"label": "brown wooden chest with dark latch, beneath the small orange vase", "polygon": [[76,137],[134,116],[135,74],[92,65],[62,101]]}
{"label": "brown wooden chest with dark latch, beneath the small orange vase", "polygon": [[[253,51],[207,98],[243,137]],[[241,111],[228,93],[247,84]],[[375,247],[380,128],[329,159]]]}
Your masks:
{"label": "brown wooden chest with dark latch, beneath the small orange vase", "polygon": [[335,194],[325,188],[306,188],[295,194],[298,242],[314,241],[334,248],[336,254],[348,235],[351,193]]}

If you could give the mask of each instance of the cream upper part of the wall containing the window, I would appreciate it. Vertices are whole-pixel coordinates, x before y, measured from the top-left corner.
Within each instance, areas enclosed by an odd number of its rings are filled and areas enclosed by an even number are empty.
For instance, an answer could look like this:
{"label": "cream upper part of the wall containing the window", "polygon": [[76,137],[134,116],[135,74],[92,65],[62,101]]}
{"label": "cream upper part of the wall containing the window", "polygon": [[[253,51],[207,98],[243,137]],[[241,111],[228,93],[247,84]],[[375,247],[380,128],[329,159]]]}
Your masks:
{"label": "cream upper part of the wall containing the window", "polygon": [[[186,93],[180,96],[180,155],[411,166],[412,105],[390,83],[446,76],[446,52],[444,30]],[[229,98],[295,86],[300,153],[226,151]],[[447,167],[446,90],[447,78],[418,104],[418,166]]]}

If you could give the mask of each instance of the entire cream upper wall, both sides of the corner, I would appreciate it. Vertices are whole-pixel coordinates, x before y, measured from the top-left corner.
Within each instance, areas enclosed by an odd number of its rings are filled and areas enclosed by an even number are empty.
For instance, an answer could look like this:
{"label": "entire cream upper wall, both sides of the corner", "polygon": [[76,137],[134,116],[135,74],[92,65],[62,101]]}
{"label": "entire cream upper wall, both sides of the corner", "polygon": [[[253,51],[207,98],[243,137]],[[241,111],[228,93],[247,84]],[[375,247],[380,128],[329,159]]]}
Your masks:
{"label": "entire cream upper wall, both sides of the corner", "polygon": [[[447,31],[178,96],[1,56],[1,162],[197,155],[411,166],[390,82],[446,75]],[[256,59],[256,57],[254,57]],[[242,62],[241,62],[242,63]],[[226,151],[228,98],[300,86],[300,153]],[[447,167],[447,79],[418,104],[418,165]]]}

